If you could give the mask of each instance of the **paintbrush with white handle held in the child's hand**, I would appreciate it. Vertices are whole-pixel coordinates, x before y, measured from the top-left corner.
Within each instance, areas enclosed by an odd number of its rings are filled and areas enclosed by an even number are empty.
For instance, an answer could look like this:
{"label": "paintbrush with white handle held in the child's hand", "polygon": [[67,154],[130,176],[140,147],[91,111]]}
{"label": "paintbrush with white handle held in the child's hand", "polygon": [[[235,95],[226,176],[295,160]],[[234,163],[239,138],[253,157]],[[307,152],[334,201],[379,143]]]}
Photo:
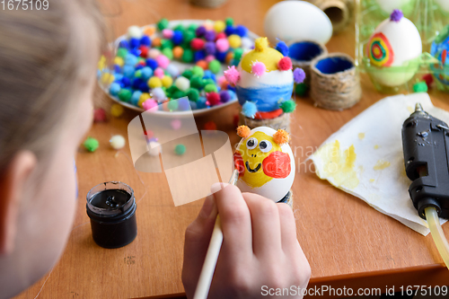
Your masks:
{"label": "paintbrush with white handle held in the child's hand", "polygon": [[[239,179],[239,171],[234,170],[229,179],[230,185],[235,185]],[[216,209],[216,207],[214,207]],[[223,232],[220,221],[220,215],[216,215],[216,224],[214,225],[214,231],[210,237],[209,247],[207,248],[206,259],[204,259],[203,268],[199,274],[197,289],[193,299],[207,299],[209,294],[210,284],[212,277],[214,277],[214,271],[216,270],[216,260],[220,254],[220,249],[223,243]]]}

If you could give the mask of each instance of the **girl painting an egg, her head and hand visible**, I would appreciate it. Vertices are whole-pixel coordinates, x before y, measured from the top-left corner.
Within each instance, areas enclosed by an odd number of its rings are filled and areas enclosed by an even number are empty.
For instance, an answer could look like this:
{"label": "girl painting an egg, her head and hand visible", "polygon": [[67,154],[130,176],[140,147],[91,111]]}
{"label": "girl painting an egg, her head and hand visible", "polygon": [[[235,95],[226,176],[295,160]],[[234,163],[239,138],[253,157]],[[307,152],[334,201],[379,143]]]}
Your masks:
{"label": "girl painting an egg, her head and hand visible", "polygon": [[[104,37],[93,0],[0,11],[0,298],[31,286],[64,251],[75,215],[73,158],[92,122]],[[187,229],[182,280],[189,298],[214,205],[225,241],[209,298],[256,298],[263,286],[307,286],[310,268],[291,209],[227,186],[207,198]]]}

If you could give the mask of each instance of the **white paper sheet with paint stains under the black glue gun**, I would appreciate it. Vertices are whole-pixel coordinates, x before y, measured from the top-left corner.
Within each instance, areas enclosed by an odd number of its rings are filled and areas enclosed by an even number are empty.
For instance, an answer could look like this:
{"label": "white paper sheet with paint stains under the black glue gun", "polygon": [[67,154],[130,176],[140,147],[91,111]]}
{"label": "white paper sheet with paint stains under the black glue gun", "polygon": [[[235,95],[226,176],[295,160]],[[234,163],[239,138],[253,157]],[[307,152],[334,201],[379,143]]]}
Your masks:
{"label": "white paper sheet with paint stains under the black glue gun", "polygon": [[[311,156],[317,175],[363,199],[379,212],[427,235],[427,222],[409,198],[411,180],[405,173],[401,128],[421,103],[430,115],[449,122],[449,112],[432,105],[427,93],[397,95],[376,102]],[[446,220],[441,219],[441,224]]]}

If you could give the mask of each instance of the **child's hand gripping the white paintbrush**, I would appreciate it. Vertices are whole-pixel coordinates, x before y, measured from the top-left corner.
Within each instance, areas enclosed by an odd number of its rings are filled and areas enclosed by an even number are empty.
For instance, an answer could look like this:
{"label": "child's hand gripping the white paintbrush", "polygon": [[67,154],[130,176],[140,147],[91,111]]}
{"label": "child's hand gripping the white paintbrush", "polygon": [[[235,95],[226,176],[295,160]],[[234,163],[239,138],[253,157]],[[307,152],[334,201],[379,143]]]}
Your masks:
{"label": "child's hand gripping the white paintbrush", "polygon": [[259,195],[242,194],[232,185],[208,197],[187,228],[182,268],[187,297],[195,293],[206,257],[216,219],[215,205],[224,241],[208,298],[302,298],[294,291],[290,296],[274,294],[276,288],[304,289],[311,276],[296,239],[292,209]]}

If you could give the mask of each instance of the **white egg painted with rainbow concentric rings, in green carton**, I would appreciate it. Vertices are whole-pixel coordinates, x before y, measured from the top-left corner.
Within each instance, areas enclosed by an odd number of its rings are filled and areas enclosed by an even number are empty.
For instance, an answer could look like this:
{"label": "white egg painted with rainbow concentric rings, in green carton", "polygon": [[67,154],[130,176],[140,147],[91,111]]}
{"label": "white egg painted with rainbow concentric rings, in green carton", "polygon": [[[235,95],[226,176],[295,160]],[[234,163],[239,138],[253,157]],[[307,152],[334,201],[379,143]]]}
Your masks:
{"label": "white egg painted with rainbow concentric rings, in green carton", "polygon": [[[418,71],[418,64],[410,63],[422,54],[419,31],[413,22],[401,17],[398,22],[391,18],[381,22],[374,30],[366,47],[371,66],[379,67],[370,72],[376,81],[385,86],[407,83]],[[415,66],[416,65],[416,66]],[[388,70],[388,67],[403,68]],[[385,71],[385,72],[383,72]]]}

